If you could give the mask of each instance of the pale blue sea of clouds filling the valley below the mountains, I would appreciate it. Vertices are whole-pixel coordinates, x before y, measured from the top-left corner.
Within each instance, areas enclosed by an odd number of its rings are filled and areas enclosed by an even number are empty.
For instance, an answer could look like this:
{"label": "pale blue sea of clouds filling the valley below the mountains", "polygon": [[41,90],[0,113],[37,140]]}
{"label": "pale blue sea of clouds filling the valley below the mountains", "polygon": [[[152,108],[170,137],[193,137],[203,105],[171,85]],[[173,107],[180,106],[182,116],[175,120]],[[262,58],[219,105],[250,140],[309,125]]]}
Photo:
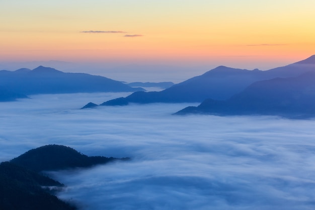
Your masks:
{"label": "pale blue sea of clouds filling the valley below the mountains", "polygon": [[80,209],[314,209],[315,120],[172,113],[197,104],[80,110],[128,93],[0,103],[0,161],[43,145],[130,157],[49,172]]}

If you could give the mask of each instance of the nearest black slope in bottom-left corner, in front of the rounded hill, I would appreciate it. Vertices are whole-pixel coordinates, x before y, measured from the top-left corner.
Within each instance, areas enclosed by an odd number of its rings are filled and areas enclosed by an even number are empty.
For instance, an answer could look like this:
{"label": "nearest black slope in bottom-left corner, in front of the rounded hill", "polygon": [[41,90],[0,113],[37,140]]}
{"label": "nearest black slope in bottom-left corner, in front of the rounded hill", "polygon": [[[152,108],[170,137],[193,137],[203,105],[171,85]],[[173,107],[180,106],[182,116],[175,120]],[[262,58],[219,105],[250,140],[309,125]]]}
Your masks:
{"label": "nearest black slope in bottom-left corner, in front of the rounded hill", "polygon": [[53,190],[63,184],[9,162],[0,164],[0,209],[5,210],[73,210],[59,200]]}

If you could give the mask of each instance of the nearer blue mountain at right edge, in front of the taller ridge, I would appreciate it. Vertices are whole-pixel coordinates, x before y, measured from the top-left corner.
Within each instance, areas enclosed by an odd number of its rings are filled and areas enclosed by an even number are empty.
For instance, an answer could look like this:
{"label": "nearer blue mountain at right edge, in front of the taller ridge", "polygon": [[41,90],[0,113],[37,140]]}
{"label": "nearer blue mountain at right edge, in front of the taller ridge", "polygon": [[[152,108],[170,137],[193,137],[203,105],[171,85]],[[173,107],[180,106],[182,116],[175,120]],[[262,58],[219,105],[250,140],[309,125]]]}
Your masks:
{"label": "nearer blue mountain at right edge, in front of the taller ridge", "polygon": [[176,114],[277,115],[315,117],[315,72],[255,82],[225,101],[207,99]]}

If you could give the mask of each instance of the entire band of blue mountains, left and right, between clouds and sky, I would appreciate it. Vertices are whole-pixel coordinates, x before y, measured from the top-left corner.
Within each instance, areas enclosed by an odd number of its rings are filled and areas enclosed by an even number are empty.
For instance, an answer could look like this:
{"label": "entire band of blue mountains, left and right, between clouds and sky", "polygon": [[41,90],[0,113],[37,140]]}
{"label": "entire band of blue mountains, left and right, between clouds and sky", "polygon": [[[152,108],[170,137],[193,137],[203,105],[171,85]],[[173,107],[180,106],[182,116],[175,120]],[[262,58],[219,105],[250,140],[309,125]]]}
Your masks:
{"label": "entire band of blue mountains, left and right, between clouds and sky", "polygon": [[[32,94],[133,92],[127,97],[100,105],[202,102],[198,107],[188,107],[177,114],[271,114],[303,118],[313,115],[310,108],[313,101],[312,72],[315,72],[315,55],[268,71],[218,66],[176,85],[127,85],[101,76],[63,73],[54,68],[39,66],[33,70],[21,68],[14,72],[0,71],[0,101],[12,101]],[[166,85],[169,88],[160,92],[144,92],[142,88],[131,87],[152,85]],[[97,106],[99,105],[90,102],[83,108]]]}

